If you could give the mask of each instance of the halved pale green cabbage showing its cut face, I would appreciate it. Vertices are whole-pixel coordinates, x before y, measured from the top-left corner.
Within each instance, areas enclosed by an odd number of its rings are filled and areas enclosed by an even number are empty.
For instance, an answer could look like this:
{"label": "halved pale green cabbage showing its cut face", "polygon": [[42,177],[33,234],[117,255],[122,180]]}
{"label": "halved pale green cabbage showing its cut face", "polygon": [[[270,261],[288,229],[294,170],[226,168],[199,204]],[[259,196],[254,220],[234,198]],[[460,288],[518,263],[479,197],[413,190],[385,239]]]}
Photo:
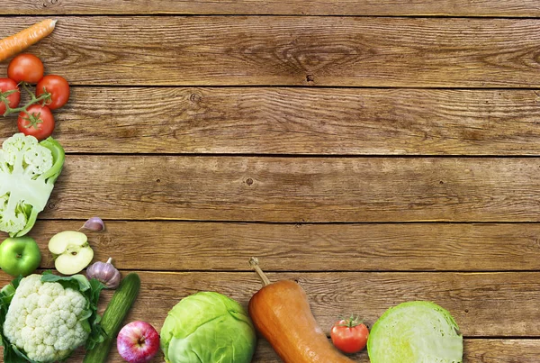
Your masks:
{"label": "halved pale green cabbage showing its cut face", "polygon": [[369,334],[367,351],[372,363],[461,363],[464,339],[445,309],[413,301],[383,313]]}

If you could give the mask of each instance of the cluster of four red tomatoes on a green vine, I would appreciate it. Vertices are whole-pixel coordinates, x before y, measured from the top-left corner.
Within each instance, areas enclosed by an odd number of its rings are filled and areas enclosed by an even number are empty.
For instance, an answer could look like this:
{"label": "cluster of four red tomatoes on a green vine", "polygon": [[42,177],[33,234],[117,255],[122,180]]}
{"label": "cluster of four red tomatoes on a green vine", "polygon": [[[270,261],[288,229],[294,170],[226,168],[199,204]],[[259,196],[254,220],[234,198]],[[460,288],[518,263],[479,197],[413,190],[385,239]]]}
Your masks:
{"label": "cluster of four red tomatoes on a green vine", "polygon": [[[44,73],[41,59],[25,53],[12,59],[7,67],[7,77],[0,78],[0,114],[18,113],[19,131],[39,141],[47,139],[54,131],[51,110],[62,107],[69,100],[67,80],[57,75],[44,76]],[[35,93],[31,91],[31,85],[36,85]],[[23,106],[19,105],[21,89],[31,96]]]}

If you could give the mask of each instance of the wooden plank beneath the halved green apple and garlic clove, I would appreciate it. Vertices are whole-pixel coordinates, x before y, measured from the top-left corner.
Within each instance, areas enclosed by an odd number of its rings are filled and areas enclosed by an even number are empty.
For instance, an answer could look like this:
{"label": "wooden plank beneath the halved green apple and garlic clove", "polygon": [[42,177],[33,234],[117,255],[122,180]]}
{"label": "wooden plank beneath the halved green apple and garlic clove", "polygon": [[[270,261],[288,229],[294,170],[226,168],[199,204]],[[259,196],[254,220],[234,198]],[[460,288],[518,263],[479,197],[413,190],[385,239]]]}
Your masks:
{"label": "wooden plank beneath the halved green apple and garlic clove", "polygon": [[[49,239],[81,225],[36,223],[30,235],[40,244],[41,268],[54,268]],[[247,270],[247,259],[257,256],[274,271],[540,270],[539,224],[107,221],[106,226],[101,233],[85,231],[94,261],[113,257],[121,269]],[[178,257],[171,259],[173,254]]]}

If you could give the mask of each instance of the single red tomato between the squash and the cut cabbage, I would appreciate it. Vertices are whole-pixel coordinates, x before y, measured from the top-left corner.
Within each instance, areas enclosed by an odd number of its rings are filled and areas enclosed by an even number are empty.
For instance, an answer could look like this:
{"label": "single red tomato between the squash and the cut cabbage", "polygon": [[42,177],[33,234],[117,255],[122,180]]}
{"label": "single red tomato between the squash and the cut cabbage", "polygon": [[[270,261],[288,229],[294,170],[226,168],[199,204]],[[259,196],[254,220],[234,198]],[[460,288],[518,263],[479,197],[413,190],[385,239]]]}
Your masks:
{"label": "single red tomato between the squash and the cut cabbage", "polygon": [[332,343],[344,353],[356,353],[364,349],[368,336],[365,324],[354,318],[336,322],[330,331]]}

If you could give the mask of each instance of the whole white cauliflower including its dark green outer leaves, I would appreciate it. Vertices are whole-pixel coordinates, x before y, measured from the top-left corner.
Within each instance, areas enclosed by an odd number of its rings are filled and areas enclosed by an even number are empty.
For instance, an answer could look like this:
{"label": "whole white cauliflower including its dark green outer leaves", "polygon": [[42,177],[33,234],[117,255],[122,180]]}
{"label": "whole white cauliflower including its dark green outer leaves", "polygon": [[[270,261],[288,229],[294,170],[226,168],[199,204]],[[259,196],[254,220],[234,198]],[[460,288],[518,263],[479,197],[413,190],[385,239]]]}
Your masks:
{"label": "whole white cauliflower including its dark green outer leaves", "polygon": [[0,293],[4,361],[56,362],[103,340],[97,300],[103,285],[50,273],[18,277]]}

